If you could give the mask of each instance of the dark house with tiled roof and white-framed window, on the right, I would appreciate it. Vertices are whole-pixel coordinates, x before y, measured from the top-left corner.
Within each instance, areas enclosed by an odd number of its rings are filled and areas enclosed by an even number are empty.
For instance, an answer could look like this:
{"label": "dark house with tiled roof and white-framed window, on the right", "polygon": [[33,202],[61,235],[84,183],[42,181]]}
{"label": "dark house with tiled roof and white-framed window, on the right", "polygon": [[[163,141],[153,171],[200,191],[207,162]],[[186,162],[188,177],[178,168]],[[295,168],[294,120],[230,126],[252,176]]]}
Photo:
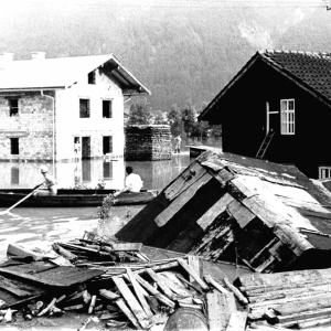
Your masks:
{"label": "dark house with tiled roof and white-framed window, on the right", "polygon": [[331,53],[257,52],[200,115],[223,150],[331,177]]}

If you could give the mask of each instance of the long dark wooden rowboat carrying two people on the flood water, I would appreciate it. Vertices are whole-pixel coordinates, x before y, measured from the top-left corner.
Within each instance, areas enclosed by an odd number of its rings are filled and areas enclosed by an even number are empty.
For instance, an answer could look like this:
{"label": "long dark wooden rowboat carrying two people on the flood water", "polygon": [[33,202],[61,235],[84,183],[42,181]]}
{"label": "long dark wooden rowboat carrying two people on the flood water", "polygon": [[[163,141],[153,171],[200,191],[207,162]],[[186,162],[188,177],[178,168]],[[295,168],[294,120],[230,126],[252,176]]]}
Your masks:
{"label": "long dark wooden rowboat carrying two people on the flood water", "polygon": [[[0,206],[8,207],[22,200],[31,189],[0,190]],[[22,207],[84,207],[102,206],[104,199],[116,190],[73,190],[60,189],[57,195],[31,195],[24,200]],[[125,192],[114,199],[114,205],[147,204],[158,194],[156,190],[142,190],[139,193]]]}

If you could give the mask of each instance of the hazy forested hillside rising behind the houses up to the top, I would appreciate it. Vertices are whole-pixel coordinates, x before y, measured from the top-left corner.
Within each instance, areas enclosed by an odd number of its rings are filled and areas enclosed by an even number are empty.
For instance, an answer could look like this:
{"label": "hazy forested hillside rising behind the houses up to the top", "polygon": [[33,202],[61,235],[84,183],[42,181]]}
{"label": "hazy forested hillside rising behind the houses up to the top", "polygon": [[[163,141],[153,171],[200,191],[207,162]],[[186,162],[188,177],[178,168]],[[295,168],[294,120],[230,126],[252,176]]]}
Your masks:
{"label": "hazy forested hillside rising behind the houses up to the top", "polygon": [[188,99],[201,108],[256,51],[331,50],[331,12],[289,2],[13,0],[0,11],[0,52],[114,53],[150,88],[154,110]]}

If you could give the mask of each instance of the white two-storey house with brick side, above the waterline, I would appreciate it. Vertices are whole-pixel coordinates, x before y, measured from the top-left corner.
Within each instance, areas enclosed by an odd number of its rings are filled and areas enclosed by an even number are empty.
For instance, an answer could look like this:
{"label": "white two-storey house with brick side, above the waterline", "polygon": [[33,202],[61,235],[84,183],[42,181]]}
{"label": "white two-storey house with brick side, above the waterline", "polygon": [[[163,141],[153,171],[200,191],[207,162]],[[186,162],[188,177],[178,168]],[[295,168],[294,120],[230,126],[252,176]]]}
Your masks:
{"label": "white two-storey house with brick side, above the waterline", "polygon": [[113,55],[0,56],[0,160],[122,158],[124,103],[150,92]]}

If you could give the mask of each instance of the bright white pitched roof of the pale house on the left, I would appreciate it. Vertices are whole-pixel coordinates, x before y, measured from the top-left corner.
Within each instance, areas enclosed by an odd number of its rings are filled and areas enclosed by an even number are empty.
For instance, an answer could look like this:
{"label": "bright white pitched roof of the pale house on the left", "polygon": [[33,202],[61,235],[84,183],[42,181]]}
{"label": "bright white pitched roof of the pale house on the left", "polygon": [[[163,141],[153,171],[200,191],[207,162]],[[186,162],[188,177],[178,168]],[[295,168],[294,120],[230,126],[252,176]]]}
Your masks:
{"label": "bright white pitched roof of the pale house on the left", "polygon": [[114,54],[10,61],[0,67],[0,92],[66,88],[102,67],[125,95],[150,94]]}

